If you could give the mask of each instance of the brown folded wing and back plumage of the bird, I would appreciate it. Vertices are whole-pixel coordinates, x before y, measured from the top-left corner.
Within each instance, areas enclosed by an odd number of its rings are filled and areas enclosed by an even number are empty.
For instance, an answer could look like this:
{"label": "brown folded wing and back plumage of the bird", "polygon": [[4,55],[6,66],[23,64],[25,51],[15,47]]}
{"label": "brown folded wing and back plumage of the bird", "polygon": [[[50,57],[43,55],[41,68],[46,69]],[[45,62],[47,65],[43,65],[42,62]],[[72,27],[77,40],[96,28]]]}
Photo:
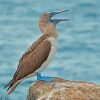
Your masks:
{"label": "brown folded wing and back plumage of the bird", "polygon": [[[17,71],[14,74],[13,79],[5,87],[9,86],[10,89],[10,87],[16,84],[16,82],[20,81],[21,79],[28,76],[29,74],[35,72],[41,66],[41,64],[45,62],[51,48],[51,44],[47,40],[48,37],[49,37],[48,34],[42,35],[23,54],[23,56],[19,60],[19,65]],[[16,85],[18,84],[19,82]]]}

